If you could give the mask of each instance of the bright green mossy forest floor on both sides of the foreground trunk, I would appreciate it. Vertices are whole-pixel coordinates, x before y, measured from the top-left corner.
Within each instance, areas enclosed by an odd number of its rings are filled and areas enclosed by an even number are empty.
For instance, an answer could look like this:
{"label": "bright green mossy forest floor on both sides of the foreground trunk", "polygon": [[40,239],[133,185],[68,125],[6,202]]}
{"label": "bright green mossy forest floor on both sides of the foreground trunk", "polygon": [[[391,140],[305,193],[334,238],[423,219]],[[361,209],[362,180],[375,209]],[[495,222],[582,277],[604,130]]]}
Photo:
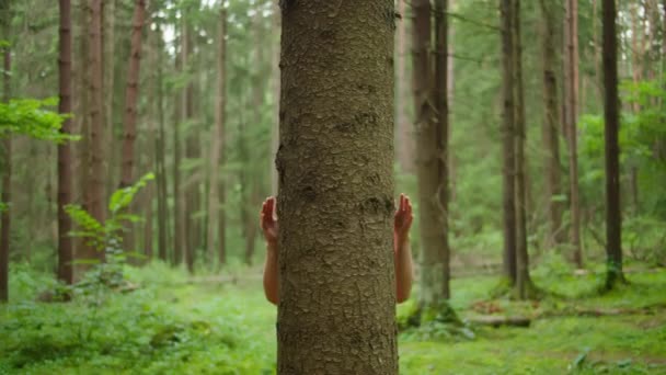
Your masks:
{"label": "bright green mossy forest floor on both sides of the foreground trunk", "polygon": [[[629,273],[629,285],[599,295],[600,270],[537,270],[537,285],[556,293],[539,303],[491,299],[496,276],[453,280],[463,319],[521,316],[530,327],[403,331],[401,374],[666,374],[666,270]],[[276,308],[254,273],[192,282],[154,264],[127,270],[135,291],[45,304],[35,297],[49,279],[14,269],[0,374],[273,374]],[[411,308],[400,305],[399,319]]]}

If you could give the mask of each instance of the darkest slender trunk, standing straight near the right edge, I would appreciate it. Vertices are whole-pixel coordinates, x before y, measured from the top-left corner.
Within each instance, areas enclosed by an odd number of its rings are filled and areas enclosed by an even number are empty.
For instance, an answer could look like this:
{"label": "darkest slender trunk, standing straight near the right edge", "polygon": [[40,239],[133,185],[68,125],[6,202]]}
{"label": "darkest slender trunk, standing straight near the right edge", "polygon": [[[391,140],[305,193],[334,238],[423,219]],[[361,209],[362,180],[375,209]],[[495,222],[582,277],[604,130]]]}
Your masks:
{"label": "darkest slender trunk, standing straight near the right edge", "polygon": [[604,120],[606,151],[606,287],[624,280],[622,274],[622,215],[620,212],[620,127],[618,98],[618,34],[616,2],[602,0],[604,19]]}

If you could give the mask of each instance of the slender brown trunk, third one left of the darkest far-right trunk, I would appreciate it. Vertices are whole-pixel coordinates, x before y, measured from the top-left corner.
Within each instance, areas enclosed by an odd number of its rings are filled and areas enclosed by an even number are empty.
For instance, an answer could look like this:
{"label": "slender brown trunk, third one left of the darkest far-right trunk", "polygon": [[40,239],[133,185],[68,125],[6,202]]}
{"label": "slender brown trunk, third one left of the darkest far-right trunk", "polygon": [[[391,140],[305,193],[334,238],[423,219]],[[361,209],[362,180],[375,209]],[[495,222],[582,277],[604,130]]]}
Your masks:
{"label": "slender brown trunk, third one left of the darkest far-right trunk", "polygon": [[514,1],[513,12],[513,44],[515,68],[515,171],[516,171],[516,292],[519,299],[530,297],[531,280],[529,277],[529,257],[527,251],[527,200],[526,200],[526,167],[525,144],[525,92],[523,86],[523,45],[520,42],[520,0]]}

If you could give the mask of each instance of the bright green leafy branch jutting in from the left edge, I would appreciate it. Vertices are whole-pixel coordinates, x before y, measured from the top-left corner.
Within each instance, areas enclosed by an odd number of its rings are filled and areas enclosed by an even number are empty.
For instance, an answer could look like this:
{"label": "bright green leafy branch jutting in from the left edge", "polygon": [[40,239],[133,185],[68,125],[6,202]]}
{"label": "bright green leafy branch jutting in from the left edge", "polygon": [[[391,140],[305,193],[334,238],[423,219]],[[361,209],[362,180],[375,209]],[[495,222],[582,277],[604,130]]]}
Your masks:
{"label": "bright green leafy branch jutting in from the left edge", "polygon": [[25,135],[55,143],[78,139],[76,136],[60,133],[65,116],[47,110],[57,104],[57,98],[14,99],[9,103],[0,103],[0,138]]}

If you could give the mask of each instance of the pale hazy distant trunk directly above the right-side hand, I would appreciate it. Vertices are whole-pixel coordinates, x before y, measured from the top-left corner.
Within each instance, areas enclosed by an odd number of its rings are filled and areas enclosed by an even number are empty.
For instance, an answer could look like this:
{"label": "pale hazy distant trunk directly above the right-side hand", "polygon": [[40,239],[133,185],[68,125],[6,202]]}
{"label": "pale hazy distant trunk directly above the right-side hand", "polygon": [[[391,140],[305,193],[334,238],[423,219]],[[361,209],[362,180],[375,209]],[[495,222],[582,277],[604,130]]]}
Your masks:
{"label": "pale hazy distant trunk directly above the right-side hand", "polygon": [[397,68],[395,68],[395,123],[397,123],[397,137],[395,137],[395,151],[398,154],[398,161],[403,173],[414,172],[414,136],[412,132],[412,123],[407,118],[406,102],[409,98],[407,93],[407,33],[406,33],[406,7],[405,0],[398,0],[398,13],[402,15],[402,19],[398,21],[398,35],[397,35]]}

